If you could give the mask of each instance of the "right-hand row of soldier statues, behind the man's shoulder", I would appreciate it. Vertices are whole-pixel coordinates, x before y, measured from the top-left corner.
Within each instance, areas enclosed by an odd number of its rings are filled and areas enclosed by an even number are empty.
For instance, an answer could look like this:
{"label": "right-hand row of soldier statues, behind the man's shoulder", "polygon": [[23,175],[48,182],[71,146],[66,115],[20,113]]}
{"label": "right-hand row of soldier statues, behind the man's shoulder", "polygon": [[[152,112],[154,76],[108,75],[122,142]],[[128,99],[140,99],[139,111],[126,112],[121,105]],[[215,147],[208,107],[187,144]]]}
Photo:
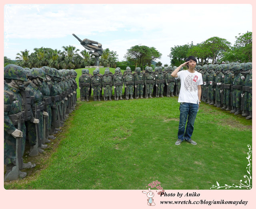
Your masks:
{"label": "right-hand row of soldier statues, behind the man's shoulder", "polygon": [[252,119],[252,63],[197,66],[202,73],[202,101]]}

